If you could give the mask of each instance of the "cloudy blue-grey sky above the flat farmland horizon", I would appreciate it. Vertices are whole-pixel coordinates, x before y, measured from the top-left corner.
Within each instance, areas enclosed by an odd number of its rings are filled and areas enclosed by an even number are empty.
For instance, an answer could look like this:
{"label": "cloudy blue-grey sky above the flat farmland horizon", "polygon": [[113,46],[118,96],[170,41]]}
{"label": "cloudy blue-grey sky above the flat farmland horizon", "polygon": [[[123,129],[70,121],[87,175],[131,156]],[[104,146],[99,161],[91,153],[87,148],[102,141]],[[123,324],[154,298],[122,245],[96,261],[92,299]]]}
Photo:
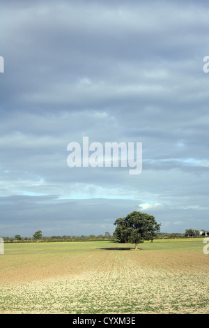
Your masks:
{"label": "cloudy blue-grey sky above the flat farmland horizon", "polygon": [[[1,0],[1,236],[112,234],[132,211],[209,229],[208,16],[201,0]],[[141,142],[141,173],[69,167],[83,137]]]}

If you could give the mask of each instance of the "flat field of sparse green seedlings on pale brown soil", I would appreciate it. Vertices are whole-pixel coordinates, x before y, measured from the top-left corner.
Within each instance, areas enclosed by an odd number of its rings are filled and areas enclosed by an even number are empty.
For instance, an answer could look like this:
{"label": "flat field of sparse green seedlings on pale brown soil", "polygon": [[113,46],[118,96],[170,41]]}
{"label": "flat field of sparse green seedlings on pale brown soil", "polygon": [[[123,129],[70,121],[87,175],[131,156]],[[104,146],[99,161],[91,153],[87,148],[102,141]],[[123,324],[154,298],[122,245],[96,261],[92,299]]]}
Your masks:
{"label": "flat field of sparse green seedlings on pale brown soil", "polygon": [[209,313],[202,239],[5,244],[0,313]]}

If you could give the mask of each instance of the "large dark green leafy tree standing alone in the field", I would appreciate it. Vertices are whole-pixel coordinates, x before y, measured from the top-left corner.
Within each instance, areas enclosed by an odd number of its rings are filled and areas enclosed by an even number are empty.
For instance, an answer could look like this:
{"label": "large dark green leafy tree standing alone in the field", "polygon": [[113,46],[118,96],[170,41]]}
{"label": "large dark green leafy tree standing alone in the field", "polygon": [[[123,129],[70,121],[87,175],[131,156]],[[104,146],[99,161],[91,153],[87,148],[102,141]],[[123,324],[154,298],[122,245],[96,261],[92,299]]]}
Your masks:
{"label": "large dark green leafy tree standing alone in the field", "polygon": [[125,218],[117,218],[116,230],[114,237],[121,243],[135,244],[135,249],[139,243],[144,243],[144,240],[153,241],[160,232],[160,223],[155,221],[155,217],[146,213],[133,211]]}

